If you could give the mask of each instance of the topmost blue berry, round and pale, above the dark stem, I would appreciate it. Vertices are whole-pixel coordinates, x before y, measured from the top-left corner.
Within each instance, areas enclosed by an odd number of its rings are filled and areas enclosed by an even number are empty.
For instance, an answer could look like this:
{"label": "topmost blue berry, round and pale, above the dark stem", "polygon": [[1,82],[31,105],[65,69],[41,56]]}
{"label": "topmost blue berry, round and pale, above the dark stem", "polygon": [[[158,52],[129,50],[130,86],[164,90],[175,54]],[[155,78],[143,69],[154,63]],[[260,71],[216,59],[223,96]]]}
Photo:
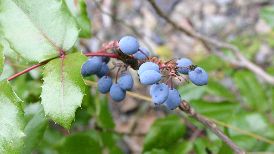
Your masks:
{"label": "topmost blue berry, round and pale, above the dark stem", "polygon": [[125,36],[120,39],[119,46],[122,52],[125,54],[135,54],[139,50],[139,43],[136,38],[131,36]]}

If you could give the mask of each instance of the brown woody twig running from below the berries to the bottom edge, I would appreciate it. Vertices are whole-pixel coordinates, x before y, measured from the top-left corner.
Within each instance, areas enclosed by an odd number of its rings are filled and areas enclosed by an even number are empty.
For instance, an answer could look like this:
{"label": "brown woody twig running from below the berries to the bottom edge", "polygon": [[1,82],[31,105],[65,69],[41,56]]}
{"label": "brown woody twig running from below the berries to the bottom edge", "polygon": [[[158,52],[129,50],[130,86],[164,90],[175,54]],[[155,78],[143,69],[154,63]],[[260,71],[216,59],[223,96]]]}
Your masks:
{"label": "brown woody twig running from below the berries to the bottom edge", "polygon": [[179,109],[186,112],[188,116],[198,120],[200,123],[209,128],[215,133],[221,140],[223,140],[235,153],[245,154],[245,151],[238,147],[225,133],[223,133],[219,127],[210,121],[208,118],[198,114],[194,108],[192,108],[186,101],[182,100]]}

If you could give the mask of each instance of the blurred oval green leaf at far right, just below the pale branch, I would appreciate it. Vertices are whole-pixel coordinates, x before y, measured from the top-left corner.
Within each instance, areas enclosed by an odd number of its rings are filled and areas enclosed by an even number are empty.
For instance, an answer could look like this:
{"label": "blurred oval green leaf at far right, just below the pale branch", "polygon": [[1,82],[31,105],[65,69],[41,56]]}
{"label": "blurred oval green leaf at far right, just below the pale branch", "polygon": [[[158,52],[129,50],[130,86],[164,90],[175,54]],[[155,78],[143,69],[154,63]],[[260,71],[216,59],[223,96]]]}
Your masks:
{"label": "blurred oval green leaf at far right, just below the pale branch", "polygon": [[266,90],[249,71],[238,71],[233,76],[243,101],[255,111],[268,110]]}

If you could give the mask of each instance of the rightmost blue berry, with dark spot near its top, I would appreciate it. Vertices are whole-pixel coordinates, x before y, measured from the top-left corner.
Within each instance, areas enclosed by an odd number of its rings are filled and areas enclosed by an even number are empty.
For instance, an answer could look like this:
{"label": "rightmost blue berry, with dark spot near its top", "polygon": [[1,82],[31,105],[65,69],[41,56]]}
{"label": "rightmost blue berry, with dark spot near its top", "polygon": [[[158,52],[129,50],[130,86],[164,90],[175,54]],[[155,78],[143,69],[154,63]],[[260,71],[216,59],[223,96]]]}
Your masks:
{"label": "rightmost blue berry, with dark spot near its top", "polygon": [[197,86],[204,86],[208,82],[208,76],[204,69],[196,67],[193,71],[188,72],[190,81]]}

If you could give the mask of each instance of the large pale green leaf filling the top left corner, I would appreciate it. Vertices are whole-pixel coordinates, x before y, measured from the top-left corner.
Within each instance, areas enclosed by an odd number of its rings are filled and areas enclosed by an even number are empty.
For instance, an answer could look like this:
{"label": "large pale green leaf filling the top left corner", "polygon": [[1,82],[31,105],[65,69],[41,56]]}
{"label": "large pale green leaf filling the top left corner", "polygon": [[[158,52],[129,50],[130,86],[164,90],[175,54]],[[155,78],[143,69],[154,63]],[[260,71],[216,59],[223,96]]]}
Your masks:
{"label": "large pale green leaf filling the top left corner", "polygon": [[0,8],[4,38],[27,62],[58,57],[78,38],[75,19],[62,1],[4,0]]}

